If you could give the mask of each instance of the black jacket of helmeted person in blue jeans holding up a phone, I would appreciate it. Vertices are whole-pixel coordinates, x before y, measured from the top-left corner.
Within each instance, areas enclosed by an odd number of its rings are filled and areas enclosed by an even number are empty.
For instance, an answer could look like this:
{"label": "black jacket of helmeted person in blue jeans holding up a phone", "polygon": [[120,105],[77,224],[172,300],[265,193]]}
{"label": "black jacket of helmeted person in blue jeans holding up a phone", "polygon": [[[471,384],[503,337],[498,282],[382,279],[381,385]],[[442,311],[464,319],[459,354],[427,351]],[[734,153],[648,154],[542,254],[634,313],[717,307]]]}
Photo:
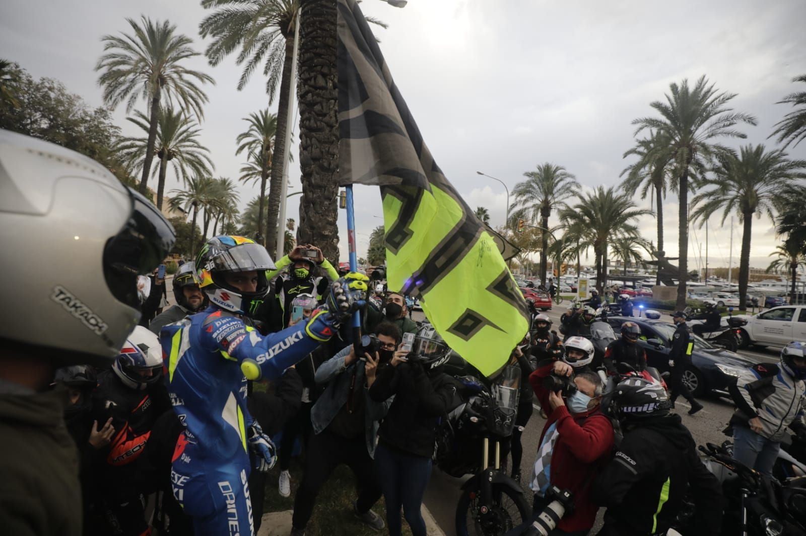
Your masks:
{"label": "black jacket of helmeted person in blue jeans holding up a phone", "polygon": [[455,379],[443,373],[426,375],[418,363],[387,365],[377,373],[369,397],[384,402],[393,395],[380,423],[380,441],[397,451],[430,458],[439,418],[457,405]]}

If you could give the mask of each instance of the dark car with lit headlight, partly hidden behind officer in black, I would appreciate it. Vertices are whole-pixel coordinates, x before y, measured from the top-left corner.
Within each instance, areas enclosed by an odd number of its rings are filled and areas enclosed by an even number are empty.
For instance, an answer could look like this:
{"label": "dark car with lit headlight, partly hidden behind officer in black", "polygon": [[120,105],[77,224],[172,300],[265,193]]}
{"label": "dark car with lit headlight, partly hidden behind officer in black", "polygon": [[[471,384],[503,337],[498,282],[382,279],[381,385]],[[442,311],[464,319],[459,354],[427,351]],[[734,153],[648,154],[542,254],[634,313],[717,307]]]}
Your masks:
{"label": "dark car with lit headlight, partly hidden behind officer in black", "polygon": [[[626,316],[609,316],[607,320],[616,333],[621,332],[621,324],[628,320],[638,324],[641,328],[641,337],[637,344],[646,351],[646,365],[658,369],[661,373],[669,370],[671,340],[675,335],[674,324]],[[693,334],[692,336],[694,337],[692,365],[683,371],[683,382],[695,396],[709,393],[729,396],[730,382],[735,381],[754,363],[737,353],[714,346],[699,336]]]}

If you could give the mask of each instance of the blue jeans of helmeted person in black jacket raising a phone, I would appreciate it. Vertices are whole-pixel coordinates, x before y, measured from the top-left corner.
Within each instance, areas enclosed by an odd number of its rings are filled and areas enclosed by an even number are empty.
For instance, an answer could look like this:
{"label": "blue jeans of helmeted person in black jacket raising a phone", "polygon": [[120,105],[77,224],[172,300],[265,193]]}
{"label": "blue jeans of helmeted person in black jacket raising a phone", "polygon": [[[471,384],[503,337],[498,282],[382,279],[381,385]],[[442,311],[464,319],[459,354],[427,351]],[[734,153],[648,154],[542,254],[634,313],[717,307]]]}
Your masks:
{"label": "blue jeans of helmeted person in black jacket raising a phone", "polygon": [[375,467],[380,489],[384,490],[389,534],[401,534],[402,506],[411,534],[426,536],[426,522],[422,519],[420,507],[431,477],[431,459],[393,451],[381,442],[375,451]]}

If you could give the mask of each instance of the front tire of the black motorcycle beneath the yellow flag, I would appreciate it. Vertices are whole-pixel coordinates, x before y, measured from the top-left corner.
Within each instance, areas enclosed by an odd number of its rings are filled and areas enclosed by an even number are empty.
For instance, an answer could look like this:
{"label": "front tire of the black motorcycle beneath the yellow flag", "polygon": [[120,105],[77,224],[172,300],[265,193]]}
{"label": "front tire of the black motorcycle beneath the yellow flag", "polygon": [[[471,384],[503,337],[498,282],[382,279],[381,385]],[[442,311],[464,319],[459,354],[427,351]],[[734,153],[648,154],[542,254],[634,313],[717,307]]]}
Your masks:
{"label": "front tire of the black motorcycle beneath the yellow flag", "polygon": [[463,491],[456,503],[457,536],[503,536],[531,519],[532,509],[523,493],[505,484],[492,484],[492,496],[492,511],[482,517],[476,505],[478,490]]}

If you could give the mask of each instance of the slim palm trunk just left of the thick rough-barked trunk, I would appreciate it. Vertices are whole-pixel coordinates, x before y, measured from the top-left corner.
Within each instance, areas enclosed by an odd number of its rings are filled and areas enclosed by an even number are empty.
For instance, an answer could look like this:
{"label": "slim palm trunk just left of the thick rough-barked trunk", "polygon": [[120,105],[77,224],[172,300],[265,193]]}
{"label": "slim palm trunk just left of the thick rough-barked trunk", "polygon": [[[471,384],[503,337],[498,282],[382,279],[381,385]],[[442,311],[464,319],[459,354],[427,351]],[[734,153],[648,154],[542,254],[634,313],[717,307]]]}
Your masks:
{"label": "slim palm trunk just left of the thick rough-barked trunk", "polygon": [[[285,60],[283,75],[280,79],[280,98],[277,102],[277,130],[274,134],[274,155],[272,158],[272,179],[268,187],[268,215],[266,216],[266,249],[273,252],[277,249],[277,225],[280,222],[280,194],[283,186],[283,166],[285,155],[290,147],[285,146],[285,133],[293,125],[289,125],[289,99],[291,98],[291,68],[293,67],[294,36],[285,38]],[[335,64],[334,64],[335,65]],[[263,205],[261,205],[262,207]],[[261,213],[263,208],[260,209]]]}

